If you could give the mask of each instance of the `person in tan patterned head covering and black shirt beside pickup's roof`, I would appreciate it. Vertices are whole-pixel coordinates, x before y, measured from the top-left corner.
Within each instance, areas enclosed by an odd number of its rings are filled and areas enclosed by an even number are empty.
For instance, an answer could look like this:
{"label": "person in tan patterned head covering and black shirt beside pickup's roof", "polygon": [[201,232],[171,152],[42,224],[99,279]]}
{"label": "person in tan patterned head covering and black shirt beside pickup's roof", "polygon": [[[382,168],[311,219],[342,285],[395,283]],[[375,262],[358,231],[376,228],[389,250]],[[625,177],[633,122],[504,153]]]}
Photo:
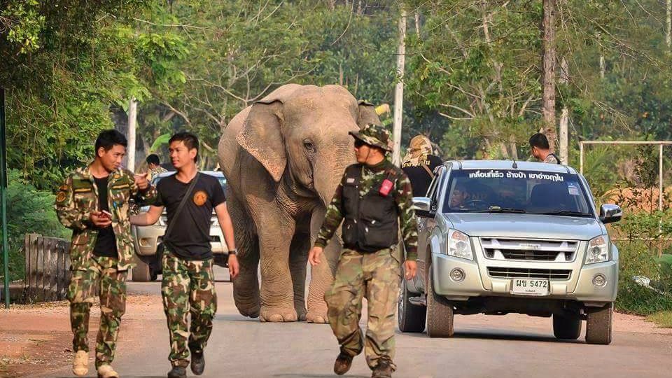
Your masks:
{"label": "person in tan patterned head covering and black shirt beside pickup's roof", "polygon": [[432,153],[432,143],[428,137],[416,135],[411,139],[401,167],[411,181],[413,197],[427,195],[429,185],[434,179],[434,169],[443,164],[441,158]]}

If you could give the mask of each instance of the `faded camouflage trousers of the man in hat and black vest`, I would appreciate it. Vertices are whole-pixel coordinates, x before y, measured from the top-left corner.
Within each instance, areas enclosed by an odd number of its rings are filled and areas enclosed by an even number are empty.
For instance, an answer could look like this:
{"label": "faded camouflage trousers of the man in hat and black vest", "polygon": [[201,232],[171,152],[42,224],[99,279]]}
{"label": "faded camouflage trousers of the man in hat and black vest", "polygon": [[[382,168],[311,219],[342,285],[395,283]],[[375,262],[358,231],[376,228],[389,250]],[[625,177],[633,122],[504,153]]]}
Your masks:
{"label": "faded camouflage trousers of the man in hat and black vest", "polygon": [[[396,248],[375,253],[344,249],[333,285],[326,291],[327,317],[343,353],[356,356],[365,349],[373,369],[380,360],[393,367],[395,310],[399,299],[401,266]],[[359,328],[362,298],[367,299],[366,335]]]}

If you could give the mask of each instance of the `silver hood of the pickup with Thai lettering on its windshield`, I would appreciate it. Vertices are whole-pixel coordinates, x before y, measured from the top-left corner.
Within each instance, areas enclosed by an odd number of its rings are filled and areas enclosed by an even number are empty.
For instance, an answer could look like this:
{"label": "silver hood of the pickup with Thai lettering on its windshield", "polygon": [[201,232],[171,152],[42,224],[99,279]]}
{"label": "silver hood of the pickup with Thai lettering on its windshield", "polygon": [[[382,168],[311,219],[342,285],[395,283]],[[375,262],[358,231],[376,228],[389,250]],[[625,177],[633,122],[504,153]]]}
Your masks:
{"label": "silver hood of the pickup with Thai lettering on its windshield", "polygon": [[444,214],[452,227],[469,236],[590,240],[604,233],[595,218],[535,214]]}

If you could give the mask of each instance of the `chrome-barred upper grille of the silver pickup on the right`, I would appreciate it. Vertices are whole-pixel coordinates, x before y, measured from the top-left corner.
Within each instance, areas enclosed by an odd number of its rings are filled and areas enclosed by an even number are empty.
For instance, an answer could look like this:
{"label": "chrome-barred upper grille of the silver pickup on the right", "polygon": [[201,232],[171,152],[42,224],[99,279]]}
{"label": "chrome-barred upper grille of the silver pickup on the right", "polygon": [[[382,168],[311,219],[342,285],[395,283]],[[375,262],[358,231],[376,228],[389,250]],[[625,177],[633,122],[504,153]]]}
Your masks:
{"label": "chrome-barred upper grille of the silver pickup on the right", "polygon": [[482,237],[481,246],[485,257],[493,260],[570,262],[575,258],[579,242]]}

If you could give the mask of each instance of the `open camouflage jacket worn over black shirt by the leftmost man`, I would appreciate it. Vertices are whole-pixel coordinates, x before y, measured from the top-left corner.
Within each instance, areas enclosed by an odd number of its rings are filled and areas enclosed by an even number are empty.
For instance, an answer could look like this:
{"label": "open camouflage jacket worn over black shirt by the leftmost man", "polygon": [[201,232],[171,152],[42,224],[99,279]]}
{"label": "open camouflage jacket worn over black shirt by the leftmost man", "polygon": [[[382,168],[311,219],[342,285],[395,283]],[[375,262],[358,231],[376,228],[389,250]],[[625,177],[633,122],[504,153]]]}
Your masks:
{"label": "open camouflage jacket worn over black shirt by the leftmost man", "polygon": [[[70,260],[73,270],[86,269],[92,259],[98,230],[90,222],[89,215],[98,209],[98,190],[89,167],[85,167],[69,174],[56,194],[55,208],[58,220],[72,230]],[[156,197],[156,190],[152,187],[144,191],[139,190],[132,172],[127,170],[111,173],[106,190],[119,255],[117,269],[130,269],[134,267],[135,262],[128,200],[140,195],[144,201],[151,203]]]}

